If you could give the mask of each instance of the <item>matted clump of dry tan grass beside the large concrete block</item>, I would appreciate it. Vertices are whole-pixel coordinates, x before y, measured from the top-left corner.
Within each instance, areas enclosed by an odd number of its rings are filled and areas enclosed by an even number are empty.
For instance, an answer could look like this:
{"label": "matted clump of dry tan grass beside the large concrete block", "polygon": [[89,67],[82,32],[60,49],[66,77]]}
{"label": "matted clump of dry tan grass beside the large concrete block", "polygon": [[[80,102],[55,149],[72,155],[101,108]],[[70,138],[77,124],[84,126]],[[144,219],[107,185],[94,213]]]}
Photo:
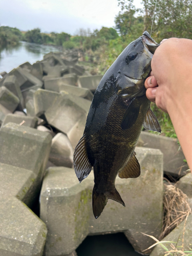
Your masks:
{"label": "matted clump of dry tan grass beside the large concrete block", "polygon": [[187,196],[183,191],[174,185],[164,184],[164,186],[164,218],[159,240],[162,240],[167,236],[170,231],[177,227],[189,214],[191,214],[191,208],[187,202]]}

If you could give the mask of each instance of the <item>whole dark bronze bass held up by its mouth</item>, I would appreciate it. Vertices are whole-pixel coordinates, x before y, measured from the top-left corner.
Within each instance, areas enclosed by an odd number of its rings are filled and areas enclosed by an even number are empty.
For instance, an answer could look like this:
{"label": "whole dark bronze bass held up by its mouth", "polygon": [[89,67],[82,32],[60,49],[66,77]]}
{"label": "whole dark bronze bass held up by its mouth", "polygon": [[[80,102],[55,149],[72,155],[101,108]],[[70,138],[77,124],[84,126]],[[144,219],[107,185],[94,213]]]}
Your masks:
{"label": "whole dark bronze bass held up by its mouth", "polygon": [[108,199],[125,206],[115,188],[120,178],[137,178],[135,146],[144,126],[161,132],[146,98],[145,79],[159,44],[145,31],[131,42],[102,77],[92,100],[83,136],[74,151],[74,169],[81,182],[93,167],[93,214],[97,219]]}

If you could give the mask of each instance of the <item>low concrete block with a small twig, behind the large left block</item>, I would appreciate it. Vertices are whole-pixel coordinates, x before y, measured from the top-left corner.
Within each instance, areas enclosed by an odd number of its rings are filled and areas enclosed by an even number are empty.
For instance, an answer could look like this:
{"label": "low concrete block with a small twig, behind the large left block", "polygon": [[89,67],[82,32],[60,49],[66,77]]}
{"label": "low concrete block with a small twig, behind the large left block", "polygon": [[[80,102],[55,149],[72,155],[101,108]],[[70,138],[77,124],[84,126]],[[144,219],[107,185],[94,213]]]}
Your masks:
{"label": "low concrete block with a small twig, behind the large left block", "polygon": [[32,128],[36,128],[38,119],[37,119],[37,117],[8,114],[5,117],[5,119],[2,123],[2,126],[5,125],[6,123],[9,123],[9,122],[17,123],[17,124],[32,127]]}

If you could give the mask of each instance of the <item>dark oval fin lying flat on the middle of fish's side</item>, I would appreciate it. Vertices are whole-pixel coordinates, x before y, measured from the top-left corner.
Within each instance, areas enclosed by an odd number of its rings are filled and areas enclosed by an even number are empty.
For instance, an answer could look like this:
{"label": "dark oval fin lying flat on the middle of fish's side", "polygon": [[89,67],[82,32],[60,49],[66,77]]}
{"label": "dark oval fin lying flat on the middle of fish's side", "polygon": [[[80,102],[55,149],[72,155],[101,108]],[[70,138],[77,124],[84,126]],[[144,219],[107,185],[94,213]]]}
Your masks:
{"label": "dark oval fin lying flat on the middle of fish's side", "polygon": [[129,129],[136,122],[139,115],[140,105],[135,103],[135,98],[132,99],[130,105],[125,111],[122,119],[121,128],[122,130]]}

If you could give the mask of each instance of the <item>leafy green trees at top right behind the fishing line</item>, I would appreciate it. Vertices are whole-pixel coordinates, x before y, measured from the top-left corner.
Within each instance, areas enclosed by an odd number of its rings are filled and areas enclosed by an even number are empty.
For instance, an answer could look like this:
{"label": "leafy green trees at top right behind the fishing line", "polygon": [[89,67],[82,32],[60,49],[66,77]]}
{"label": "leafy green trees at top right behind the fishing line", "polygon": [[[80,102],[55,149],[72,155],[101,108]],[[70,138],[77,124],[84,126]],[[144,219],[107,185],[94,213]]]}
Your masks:
{"label": "leafy green trees at top right behind the fishing line", "polygon": [[155,11],[154,0],[142,0],[143,8],[136,9],[133,0],[118,0],[121,11],[115,17],[116,28],[122,36],[151,31],[155,39],[168,37],[192,38],[191,0],[159,0]]}

